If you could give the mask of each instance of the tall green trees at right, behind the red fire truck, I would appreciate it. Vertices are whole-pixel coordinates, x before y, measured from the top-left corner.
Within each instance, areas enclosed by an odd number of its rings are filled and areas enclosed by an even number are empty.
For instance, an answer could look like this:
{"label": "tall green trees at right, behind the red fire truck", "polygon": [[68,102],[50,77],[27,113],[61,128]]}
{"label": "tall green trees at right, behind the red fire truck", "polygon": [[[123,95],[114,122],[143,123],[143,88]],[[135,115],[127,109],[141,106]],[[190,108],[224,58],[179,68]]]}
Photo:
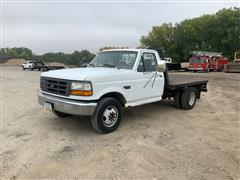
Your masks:
{"label": "tall green trees at right, behind the red fire truck", "polygon": [[228,58],[240,50],[240,8],[155,26],[140,39],[141,47],[163,49],[174,61],[189,59],[191,51],[222,52]]}

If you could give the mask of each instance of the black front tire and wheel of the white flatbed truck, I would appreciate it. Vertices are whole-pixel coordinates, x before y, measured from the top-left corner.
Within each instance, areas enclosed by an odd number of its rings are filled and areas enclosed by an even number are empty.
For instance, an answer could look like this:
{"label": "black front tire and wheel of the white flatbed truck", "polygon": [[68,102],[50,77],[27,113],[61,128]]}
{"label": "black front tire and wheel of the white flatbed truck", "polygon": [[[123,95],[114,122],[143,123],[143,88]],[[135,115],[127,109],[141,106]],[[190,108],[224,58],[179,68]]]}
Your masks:
{"label": "black front tire and wheel of the white flatbed truck", "polygon": [[110,133],[117,129],[122,119],[121,103],[115,98],[101,99],[91,117],[93,128],[99,133]]}

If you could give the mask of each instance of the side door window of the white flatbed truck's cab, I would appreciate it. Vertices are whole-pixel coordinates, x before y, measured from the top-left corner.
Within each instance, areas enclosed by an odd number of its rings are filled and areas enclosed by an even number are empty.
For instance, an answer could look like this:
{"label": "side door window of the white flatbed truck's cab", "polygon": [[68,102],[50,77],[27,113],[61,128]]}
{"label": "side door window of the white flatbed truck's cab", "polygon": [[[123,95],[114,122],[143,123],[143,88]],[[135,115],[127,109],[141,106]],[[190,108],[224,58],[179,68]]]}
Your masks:
{"label": "side door window of the white flatbed truck's cab", "polygon": [[157,60],[153,53],[143,53],[138,65],[138,72],[156,71]]}

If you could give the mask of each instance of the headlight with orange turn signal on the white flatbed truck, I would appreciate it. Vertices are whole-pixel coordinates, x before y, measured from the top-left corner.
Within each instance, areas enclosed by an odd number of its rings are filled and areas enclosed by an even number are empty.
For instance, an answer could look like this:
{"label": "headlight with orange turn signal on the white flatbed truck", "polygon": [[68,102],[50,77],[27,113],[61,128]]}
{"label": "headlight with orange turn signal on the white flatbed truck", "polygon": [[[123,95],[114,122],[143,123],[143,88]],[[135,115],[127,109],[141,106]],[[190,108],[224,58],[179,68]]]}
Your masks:
{"label": "headlight with orange turn signal on the white flatbed truck", "polygon": [[90,82],[72,82],[70,95],[91,96],[93,94]]}

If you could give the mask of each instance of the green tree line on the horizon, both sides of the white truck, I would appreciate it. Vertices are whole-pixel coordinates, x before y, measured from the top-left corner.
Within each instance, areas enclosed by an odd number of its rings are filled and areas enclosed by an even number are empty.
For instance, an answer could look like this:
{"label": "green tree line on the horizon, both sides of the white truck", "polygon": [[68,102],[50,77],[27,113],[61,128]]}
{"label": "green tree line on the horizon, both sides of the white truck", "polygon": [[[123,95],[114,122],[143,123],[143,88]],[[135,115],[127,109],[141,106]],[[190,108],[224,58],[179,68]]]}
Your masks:
{"label": "green tree line on the horizon, both sides of the white truck", "polygon": [[[164,23],[154,26],[150,32],[140,39],[140,47],[162,49],[165,56],[175,62],[188,61],[191,51],[222,52],[232,58],[235,51],[240,50],[240,8],[222,9],[213,15],[186,19],[177,24]],[[100,48],[112,49],[106,46]],[[45,62],[61,62],[67,65],[81,65],[89,63],[95,54],[88,50],[73,53],[45,53],[36,55],[30,49],[2,48],[1,58],[23,58],[42,60]]]}

